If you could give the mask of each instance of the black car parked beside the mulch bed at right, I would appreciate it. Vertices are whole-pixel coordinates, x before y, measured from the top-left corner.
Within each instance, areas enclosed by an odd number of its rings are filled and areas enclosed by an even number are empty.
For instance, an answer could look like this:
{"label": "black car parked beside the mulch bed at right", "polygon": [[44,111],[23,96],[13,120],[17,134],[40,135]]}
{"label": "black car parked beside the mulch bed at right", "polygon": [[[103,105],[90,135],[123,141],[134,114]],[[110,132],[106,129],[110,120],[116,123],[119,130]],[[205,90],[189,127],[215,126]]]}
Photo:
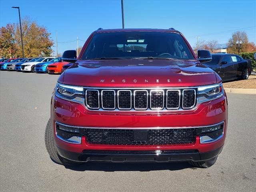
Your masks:
{"label": "black car parked beside the mulch bed at right", "polygon": [[234,54],[212,54],[212,60],[203,64],[214,70],[222,81],[248,79],[252,72],[251,61]]}

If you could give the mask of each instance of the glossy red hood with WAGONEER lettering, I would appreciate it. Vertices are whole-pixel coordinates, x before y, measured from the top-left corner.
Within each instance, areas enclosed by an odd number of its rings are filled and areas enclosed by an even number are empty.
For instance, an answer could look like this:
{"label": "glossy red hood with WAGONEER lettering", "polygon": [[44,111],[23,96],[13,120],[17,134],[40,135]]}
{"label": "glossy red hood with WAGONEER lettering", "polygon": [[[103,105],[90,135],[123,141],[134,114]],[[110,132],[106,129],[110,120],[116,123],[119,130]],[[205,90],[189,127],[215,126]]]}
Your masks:
{"label": "glossy red hood with WAGONEER lettering", "polygon": [[97,87],[177,87],[215,84],[216,75],[194,60],[78,60],[58,81]]}

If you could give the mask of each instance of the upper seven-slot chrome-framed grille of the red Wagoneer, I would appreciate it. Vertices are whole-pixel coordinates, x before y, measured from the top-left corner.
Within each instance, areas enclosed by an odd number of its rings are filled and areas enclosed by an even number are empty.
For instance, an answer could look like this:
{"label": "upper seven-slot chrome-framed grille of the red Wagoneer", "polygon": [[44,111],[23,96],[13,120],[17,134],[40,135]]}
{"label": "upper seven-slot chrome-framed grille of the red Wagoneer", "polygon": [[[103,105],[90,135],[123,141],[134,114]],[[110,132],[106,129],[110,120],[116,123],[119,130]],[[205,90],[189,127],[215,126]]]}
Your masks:
{"label": "upper seven-slot chrome-framed grille of the red Wagoneer", "polygon": [[195,89],[86,89],[90,110],[178,110],[196,106]]}

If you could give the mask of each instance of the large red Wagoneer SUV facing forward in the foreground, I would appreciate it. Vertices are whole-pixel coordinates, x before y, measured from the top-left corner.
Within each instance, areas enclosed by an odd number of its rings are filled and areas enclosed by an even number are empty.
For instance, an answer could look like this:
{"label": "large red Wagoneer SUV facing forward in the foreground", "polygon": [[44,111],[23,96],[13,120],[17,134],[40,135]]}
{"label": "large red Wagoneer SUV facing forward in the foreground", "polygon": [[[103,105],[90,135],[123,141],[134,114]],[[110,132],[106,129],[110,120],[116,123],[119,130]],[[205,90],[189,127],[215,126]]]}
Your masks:
{"label": "large red Wagoneer SUV facing forward in the foreground", "polygon": [[212,166],[222,151],[228,102],[220,76],[170,29],[96,30],[63,54],[45,142],[59,164],[180,162]]}

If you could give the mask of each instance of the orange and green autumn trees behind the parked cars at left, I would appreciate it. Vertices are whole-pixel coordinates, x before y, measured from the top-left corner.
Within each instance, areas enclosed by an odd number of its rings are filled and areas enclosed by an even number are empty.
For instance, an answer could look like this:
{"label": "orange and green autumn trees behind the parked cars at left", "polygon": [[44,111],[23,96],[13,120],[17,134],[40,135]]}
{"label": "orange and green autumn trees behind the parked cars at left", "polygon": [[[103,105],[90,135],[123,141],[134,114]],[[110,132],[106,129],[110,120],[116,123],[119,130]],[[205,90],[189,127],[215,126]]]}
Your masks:
{"label": "orange and green autumn trees behind the parked cars at left", "polygon": [[[2,31],[4,33],[2,33]],[[51,55],[53,40],[50,39],[50,33],[44,26],[39,26],[36,21],[31,21],[28,18],[24,18],[22,20],[22,38],[25,57],[42,57]],[[11,52],[11,56],[13,57],[22,57],[20,28],[18,24],[8,24],[6,27],[2,27],[0,39],[1,56],[8,56]],[[2,42],[9,42],[9,51],[2,46]]]}

